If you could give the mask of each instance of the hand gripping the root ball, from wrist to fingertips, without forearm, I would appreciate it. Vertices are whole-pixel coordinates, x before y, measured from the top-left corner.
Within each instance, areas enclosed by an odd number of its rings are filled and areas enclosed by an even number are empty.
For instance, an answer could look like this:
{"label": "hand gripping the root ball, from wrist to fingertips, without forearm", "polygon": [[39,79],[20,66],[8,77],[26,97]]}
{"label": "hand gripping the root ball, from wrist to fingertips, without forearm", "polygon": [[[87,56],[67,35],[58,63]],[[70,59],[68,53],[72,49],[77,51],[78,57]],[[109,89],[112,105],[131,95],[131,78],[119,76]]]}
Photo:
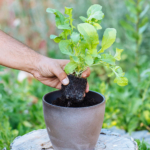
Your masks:
{"label": "hand gripping the root ball, from wrist to fingertips, without forearm", "polygon": [[[40,56],[36,63],[36,69],[32,73],[33,76],[45,85],[61,89],[61,84],[69,84],[67,74],[64,72],[64,67],[69,63],[69,60],[51,59],[45,56]],[[87,68],[82,73],[83,78],[90,75],[90,68]],[[89,91],[89,84],[87,84],[85,92]]]}

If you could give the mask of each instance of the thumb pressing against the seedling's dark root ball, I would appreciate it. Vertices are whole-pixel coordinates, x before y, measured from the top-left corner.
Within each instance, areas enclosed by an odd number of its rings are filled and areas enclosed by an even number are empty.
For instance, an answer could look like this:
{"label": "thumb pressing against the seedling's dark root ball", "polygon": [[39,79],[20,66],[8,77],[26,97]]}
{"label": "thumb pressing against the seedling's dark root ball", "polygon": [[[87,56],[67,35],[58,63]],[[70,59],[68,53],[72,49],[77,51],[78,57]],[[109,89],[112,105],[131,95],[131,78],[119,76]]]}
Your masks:
{"label": "thumb pressing against the seedling's dark root ball", "polygon": [[63,85],[69,84],[69,78],[67,74],[59,65],[57,66],[57,68],[54,68],[53,72]]}

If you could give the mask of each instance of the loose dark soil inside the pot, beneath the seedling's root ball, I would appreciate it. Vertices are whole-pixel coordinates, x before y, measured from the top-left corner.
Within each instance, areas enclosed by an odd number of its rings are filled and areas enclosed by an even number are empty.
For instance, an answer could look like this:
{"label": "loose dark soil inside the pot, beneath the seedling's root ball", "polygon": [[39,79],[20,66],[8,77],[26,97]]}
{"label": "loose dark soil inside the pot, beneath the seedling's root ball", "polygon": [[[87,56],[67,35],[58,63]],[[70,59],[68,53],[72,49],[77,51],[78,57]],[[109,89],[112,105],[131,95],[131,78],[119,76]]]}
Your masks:
{"label": "loose dark soil inside the pot, beneath the seedling's root ball", "polygon": [[53,105],[63,106],[63,107],[88,107],[98,104],[94,98],[85,97],[82,101],[75,102],[72,99],[63,99],[62,97],[57,98],[52,102]]}

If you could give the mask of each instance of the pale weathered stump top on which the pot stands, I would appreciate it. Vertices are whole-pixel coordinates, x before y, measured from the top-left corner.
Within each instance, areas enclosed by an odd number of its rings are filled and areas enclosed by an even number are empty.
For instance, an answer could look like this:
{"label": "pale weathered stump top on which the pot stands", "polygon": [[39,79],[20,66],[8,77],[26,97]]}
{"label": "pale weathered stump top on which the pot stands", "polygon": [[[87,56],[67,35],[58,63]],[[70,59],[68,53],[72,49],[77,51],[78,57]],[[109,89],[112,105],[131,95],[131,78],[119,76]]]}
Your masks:
{"label": "pale weathered stump top on which the pot stands", "polygon": [[[11,150],[53,150],[53,147],[46,129],[41,129],[17,137],[11,144]],[[132,138],[125,138],[118,133],[102,129],[95,150],[138,150],[138,148]]]}

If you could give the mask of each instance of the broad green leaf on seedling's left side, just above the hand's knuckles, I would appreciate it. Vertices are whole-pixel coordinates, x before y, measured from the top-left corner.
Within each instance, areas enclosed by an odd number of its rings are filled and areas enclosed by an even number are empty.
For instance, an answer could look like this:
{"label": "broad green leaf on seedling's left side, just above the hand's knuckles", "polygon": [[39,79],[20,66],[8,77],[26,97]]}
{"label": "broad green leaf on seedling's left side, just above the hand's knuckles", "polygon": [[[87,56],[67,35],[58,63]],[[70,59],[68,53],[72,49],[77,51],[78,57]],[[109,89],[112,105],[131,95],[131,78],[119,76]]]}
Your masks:
{"label": "broad green leaf on seedling's left side, just above the hand's knuckles", "polygon": [[73,50],[69,40],[62,40],[59,42],[59,49],[63,54],[73,56]]}

